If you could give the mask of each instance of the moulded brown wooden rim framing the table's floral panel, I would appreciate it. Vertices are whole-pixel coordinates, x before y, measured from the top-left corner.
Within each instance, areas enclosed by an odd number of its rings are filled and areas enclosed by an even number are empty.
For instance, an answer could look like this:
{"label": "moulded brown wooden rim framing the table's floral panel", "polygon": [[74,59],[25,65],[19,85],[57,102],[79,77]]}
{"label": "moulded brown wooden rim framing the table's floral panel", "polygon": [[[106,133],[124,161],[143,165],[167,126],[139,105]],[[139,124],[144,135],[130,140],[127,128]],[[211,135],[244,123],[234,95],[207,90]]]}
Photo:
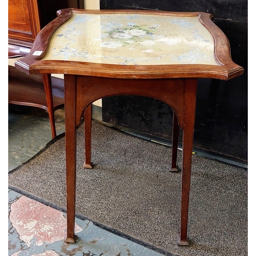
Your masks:
{"label": "moulded brown wooden rim framing the table's floral panel", "polygon": [[[49,40],[53,32],[66,20],[72,13],[143,13],[153,15],[170,16],[198,16],[200,22],[210,31],[215,38],[215,59],[220,66],[216,65],[109,65],[101,63],[90,63],[74,61],[75,65],[70,65],[72,61],[64,60],[40,60],[45,56]],[[26,73],[61,73],[74,75],[90,75],[101,77],[117,78],[217,78],[228,80],[243,74],[244,69],[234,63],[230,55],[229,41],[225,34],[211,21],[211,14],[202,12],[165,12],[165,11],[139,11],[139,10],[79,10],[64,9],[58,11],[58,17],[40,31],[36,43],[31,49],[31,54],[23,60],[17,61],[17,67]],[[33,56],[34,51],[42,51],[39,57]]]}

